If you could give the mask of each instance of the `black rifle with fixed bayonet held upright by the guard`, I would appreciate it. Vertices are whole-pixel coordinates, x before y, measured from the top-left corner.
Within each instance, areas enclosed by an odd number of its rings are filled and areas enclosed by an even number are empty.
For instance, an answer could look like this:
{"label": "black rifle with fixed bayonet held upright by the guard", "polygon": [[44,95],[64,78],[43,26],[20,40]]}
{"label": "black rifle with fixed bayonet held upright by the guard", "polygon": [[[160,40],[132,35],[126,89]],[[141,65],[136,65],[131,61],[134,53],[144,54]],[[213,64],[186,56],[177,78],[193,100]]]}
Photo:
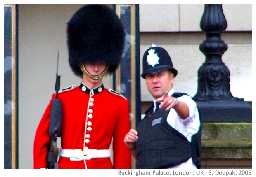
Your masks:
{"label": "black rifle with fixed bayonet held upright by the guard", "polygon": [[48,144],[48,156],[47,156],[47,168],[59,168],[58,167],[58,157],[59,148],[57,147],[57,137],[60,137],[61,124],[62,124],[62,101],[58,99],[58,93],[60,89],[60,75],[58,75],[58,65],[59,65],[59,51],[57,58],[57,72],[56,72],[56,82],[55,91],[56,97],[52,100],[51,114],[50,114],[50,126],[49,126],[49,136],[51,141]]}

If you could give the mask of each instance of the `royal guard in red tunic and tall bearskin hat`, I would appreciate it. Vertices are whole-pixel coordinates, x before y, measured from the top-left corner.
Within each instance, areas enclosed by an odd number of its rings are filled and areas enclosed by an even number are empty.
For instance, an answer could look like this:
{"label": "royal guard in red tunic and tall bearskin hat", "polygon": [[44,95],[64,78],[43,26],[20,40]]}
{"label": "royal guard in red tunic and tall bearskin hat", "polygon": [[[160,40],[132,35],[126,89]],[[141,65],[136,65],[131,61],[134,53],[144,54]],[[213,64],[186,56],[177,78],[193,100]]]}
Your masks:
{"label": "royal guard in red tunic and tall bearskin hat", "polygon": [[[82,82],[58,93],[63,110],[58,168],[131,168],[123,142],[130,129],[129,102],[102,82],[121,61],[124,37],[120,19],[105,5],[85,5],[67,23],[69,65]],[[55,98],[53,94],[36,131],[34,168],[47,168]]]}

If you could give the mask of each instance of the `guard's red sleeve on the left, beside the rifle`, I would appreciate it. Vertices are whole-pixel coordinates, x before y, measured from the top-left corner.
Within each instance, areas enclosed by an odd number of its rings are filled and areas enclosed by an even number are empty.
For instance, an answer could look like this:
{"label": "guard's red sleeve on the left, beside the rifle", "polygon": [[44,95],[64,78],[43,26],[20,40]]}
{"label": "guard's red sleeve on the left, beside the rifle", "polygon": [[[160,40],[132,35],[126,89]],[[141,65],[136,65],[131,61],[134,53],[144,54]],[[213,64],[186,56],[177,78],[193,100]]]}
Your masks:
{"label": "guard's red sleeve on the left, beside the rifle", "polygon": [[49,124],[52,100],[38,125],[34,141],[34,168],[47,168],[47,146],[50,142]]}

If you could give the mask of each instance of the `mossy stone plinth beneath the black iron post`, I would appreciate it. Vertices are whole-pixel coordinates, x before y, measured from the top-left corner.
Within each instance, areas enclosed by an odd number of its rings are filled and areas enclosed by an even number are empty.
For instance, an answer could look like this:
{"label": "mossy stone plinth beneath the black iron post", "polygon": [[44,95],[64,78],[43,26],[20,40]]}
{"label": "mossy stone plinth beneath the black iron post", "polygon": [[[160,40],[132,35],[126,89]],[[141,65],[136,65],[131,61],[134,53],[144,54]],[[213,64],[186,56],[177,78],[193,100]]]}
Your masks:
{"label": "mossy stone plinth beneath the black iron post", "polygon": [[252,168],[251,123],[202,123],[201,168]]}

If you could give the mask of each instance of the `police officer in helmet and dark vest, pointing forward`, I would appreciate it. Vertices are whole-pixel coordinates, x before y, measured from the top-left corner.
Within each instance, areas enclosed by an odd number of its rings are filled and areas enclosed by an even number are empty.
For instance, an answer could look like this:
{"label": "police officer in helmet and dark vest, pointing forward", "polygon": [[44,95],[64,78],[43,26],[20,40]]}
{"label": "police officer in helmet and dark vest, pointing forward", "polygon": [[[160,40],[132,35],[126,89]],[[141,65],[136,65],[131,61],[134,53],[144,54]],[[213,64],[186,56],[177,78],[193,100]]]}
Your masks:
{"label": "police officer in helmet and dark vest, pointing forward", "polygon": [[173,89],[178,72],[164,48],[153,44],[142,60],[141,77],[153,105],[136,130],[130,129],[124,137],[136,168],[200,168],[201,122],[196,103]]}

